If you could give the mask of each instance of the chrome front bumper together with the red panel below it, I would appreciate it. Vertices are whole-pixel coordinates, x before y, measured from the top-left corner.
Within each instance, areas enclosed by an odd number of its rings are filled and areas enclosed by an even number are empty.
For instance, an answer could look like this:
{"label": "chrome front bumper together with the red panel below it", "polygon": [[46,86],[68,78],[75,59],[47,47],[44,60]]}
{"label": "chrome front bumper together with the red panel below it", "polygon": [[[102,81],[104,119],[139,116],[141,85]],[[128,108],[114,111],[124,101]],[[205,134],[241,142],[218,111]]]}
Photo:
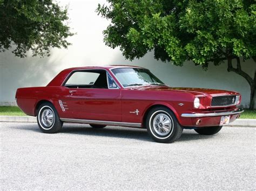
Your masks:
{"label": "chrome front bumper together with the red panel below it", "polygon": [[[203,128],[207,126],[219,126],[222,116],[230,116],[230,123],[239,118],[243,109],[228,111],[202,111],[181,114],[181,125],[184,127]],[[200,122],[200,123],[199,123]]]}

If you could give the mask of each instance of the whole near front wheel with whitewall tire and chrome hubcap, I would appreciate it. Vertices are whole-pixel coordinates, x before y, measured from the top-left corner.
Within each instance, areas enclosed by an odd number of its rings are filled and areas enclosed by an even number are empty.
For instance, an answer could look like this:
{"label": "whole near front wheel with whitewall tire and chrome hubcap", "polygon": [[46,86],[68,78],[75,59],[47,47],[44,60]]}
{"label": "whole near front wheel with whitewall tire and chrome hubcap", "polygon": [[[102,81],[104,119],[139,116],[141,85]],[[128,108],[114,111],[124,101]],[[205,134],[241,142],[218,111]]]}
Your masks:
{"label": "whole near front wheel with whitewall tire and chrome hubcap", "polygon": [[165,107],[150,110],[146,118],[146,128],[149,135],[159,143],[172,143],[180,138],[183,131],[176,116]]}

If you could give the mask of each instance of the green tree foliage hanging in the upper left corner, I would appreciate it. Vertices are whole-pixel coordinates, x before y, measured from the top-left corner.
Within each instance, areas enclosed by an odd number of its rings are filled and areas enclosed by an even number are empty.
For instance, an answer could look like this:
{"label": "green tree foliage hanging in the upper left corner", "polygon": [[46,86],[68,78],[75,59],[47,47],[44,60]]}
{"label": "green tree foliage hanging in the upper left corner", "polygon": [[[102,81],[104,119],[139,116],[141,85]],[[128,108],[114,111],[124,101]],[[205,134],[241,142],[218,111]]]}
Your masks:
{"label": "green tree foliage hanging in the upper left corner", "polygon": [[16,56],[50,55],[50,47],[68,47],[72,36],[67,7],[51,0],[0,0],[0,52],[12,48]]}

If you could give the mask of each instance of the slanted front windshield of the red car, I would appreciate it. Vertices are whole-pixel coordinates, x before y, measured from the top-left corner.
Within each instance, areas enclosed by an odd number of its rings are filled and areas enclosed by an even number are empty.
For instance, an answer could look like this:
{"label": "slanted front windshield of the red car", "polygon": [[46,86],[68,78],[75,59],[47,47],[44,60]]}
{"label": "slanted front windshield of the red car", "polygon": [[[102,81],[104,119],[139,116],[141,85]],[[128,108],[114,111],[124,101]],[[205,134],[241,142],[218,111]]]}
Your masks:
{"label": "slanted front windshield of the red car", "polygon": [[144,68],[114,68],[111,70],[123,87],[156,85],[166,86],[154,76],[150,70]]}

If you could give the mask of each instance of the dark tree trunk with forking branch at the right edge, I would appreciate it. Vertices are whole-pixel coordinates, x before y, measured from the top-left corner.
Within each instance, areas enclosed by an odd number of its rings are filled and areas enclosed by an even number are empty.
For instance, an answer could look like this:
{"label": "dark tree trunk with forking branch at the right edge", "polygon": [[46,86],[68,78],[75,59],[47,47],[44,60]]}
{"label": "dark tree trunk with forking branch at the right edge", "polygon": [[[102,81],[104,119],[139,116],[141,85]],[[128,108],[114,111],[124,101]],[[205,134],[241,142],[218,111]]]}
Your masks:
{"label": "dark tree trunk with forking branch at the right edge", "polygon": [[246,79],[246,81],[249,83],[250,89],[251,89],[250,109],[254,109],[255,89],[256,89],[256,71],[254,72],[254,79],[253,79],[250,75],[248,75],[244,71],[242,71],[241,63],[240,63],[240,58],[239,57],[235,57],[235,59],[237,59],[237,68],[234,68],[232,66],[233,58],[228,58],[227,59],[227,71],[228,72],[235,72],[235,73],[239,74],[240,76],[244,77]]}

